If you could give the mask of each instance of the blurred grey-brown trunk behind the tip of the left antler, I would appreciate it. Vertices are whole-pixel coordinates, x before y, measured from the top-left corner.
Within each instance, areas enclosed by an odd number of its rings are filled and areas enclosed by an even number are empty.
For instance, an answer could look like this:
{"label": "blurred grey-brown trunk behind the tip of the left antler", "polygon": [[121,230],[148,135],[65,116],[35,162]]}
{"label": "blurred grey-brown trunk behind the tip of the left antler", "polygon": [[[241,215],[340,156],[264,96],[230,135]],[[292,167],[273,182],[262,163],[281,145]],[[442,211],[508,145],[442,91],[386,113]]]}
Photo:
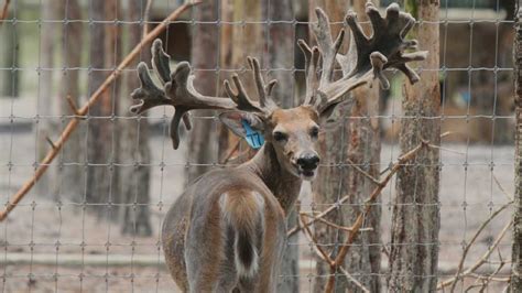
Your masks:
{"label": "blurred grey-brown trunk behind the tip of the left antler", "polygon": [[[145,0],[129,1],[127,19],[130,22],[149,20],[144,15]],[[142,13],[143,12],[143,13]],[[140,43],[143,25],[133,23],[127,25],[129,29],[129,41],[127,50],[132,48]],[[149,62],[150,46],[144,47],[142,59]],[[135,61],[131,68],[135,68],[139,61]],[[130,93],[140,86],[135,73],[126,75],[127,90],[122,93],[119,105],[121,116],[129,116],[129,107],[132,105]],[[122,119],[118,123],[120,132],[118,160],[123,167],[120,167],[120,203],[126,204],[122,207],[121,231],[122,234],[150,236],[152,227],[150,223],[150,173],[146,165],[151,161],[149,149],[149,122],[146,116],[134,117],[133,119]],[[132,206],[128,206],[132,204]]]}

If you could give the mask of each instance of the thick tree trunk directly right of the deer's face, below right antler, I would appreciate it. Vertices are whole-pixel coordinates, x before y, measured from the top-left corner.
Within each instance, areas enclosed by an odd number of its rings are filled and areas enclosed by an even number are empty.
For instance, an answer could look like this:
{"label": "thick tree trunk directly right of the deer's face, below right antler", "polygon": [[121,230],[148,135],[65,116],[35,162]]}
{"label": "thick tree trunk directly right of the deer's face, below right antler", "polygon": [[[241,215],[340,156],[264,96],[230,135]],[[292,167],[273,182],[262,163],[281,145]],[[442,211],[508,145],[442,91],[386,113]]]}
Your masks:
{"label": "thick tree trunk directly right of the deer's face, below right antler", "polygon": [[[373,2],[379,4],[377,1]],[[311,1],[309,21],[317,21],[314,10],[316,7],[323,8],[330,22],[338,22],[337,25],[331,26],[333,35],[337,35],[342,28],[341,23],[348,9],[355,10],[359,20],[367,20],[365,6],[365,1]],[[371,32],[369,28],[369,25],[365,26],[367,33]],[[344,50],[347,50],[347,46]],[[379,113],[378,88],[376,85],[371,89],[361,87],[355,90],[352,94],[355,102],[340,105],[339,111],[335,113],[345,113],[345,117],[337,118],[341,122],[320,137],[322,162],[326,166],[319,167],[318,177],[313,184],[314,202],[319,206],[328,206],[345,195],[351,195],[345,206],[327,217],[328,220],[339,225],[350,226],[355,223],[365,200],[376,187],[370,180],[348,165],[354,164],[373,177],[379,177],[381,148],[379,121],[376,118]],[[372,292],[380,291],[380,206],[373,207],[367,215],[365,228],[372,228],[372,230],[365,231],[358,237],[354,247],[350,248],[344,265],[354,278]],[[334,243],[329,249],[333,250],[331,254],[336,256],[340,248],[338,245],[344,242],[345,234],[320,224],[316,224],[315,232],[320,243]],[[316,273],[326,275],[329,273],[328,270],[329,267],[318,259]],[[326,278],[316,279],[314,291],[322,292],[325,281]],[[339,275],[336,281],[336,292],[344,291],[359,292],[360,289],[346,282],[346,278]]]}

